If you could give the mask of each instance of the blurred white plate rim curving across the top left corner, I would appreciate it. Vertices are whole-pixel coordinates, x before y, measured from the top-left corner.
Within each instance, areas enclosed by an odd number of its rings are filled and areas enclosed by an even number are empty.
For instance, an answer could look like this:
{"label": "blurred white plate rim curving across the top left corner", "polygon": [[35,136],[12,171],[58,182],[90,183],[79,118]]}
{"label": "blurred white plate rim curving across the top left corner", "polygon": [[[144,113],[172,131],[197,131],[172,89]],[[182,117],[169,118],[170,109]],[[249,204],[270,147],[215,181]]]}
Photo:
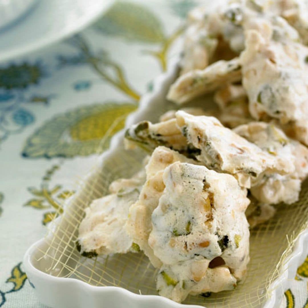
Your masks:
{"label": "blurred white plate rim curving across the top left corner", "polygon": [[0,61],[72,35],[98,18],[113,0],[38,0],[21,18],[0,31]]}

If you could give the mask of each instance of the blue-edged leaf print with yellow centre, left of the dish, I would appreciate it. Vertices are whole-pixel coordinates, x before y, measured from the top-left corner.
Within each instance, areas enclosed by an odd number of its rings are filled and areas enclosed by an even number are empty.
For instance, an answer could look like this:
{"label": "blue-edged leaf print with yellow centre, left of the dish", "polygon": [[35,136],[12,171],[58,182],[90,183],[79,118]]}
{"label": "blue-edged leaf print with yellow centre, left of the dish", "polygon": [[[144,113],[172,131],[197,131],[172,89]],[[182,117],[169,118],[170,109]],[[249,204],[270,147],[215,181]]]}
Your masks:
{"label": "blue-edged leaf print with yellow centre, left of the dish", "polygon": [[[74,157],[101,153],[111,136],[124,127],[135,103],[84,106],[55,116],[39,128],[22,150],[24,157]],[[47,175],[48,177],[48,175]]]}

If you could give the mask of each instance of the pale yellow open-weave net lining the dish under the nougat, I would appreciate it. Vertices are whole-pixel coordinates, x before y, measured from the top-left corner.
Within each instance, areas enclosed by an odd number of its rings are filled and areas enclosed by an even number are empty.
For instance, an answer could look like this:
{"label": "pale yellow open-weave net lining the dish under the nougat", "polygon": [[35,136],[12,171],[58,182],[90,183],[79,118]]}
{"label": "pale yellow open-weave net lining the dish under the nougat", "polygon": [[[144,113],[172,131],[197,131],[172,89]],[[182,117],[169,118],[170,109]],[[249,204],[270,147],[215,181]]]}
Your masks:
{"label": "pale yellow open-weave net lining the dish under the nougat", "polygon": [[[168,104],[160,102],[160,114]],[[153,107],[153,108],[154,108]],[[170,106],[169,106],[170,107]],[[174,106],[172,106],[174,107]],[[154,110],[154,109],[153,109]],[[158,119],[157,111],[148,110],[148,120]],[[139,120],[139,119],[138,119]],[[112,155],[83,180],[79,193],[66,205],[64,214],[52,225],[45,245],[38,248],[39,269],[56,277],[76,278],[93,286],[119,286],[137,294],[157,294],[157,269],[143,253],[116,254],[88,259],[75,247],[78,227],[84,209],[92,200],[108,193],[111,181],[129,177],[140,168],[145,153],[125,151],[119,146]],[[307,225],[308,183],[303,184],[300,201],[294,205],[278,205],[277,214],[267,223],[250,231],[250,263],[248,273],[235,290],[210,297],[189,296],[184,304],[206,307],[260,307],[270,292],[270,283],[288,261],[298,234]]]}

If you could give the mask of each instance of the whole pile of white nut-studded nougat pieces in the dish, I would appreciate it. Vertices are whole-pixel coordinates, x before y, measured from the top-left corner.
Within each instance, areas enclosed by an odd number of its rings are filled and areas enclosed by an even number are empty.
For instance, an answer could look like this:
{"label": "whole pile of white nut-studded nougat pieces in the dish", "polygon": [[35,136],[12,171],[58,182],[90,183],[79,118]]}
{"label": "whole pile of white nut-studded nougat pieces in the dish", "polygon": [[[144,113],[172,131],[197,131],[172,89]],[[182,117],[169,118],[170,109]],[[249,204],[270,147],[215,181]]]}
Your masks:
{"label": "whole pile of white nut-studded nougat pieces in the dish", "polygon": [[188,106],[127,130],[126,147],[151,155],[85,209],[83,256],[142,251],[159,269],[158,293],[176,302],[245,277],[249,228],[298,201],[308,175],[305,3],[234,0],[189,14],[167,98],[213,93],[218,108]]}

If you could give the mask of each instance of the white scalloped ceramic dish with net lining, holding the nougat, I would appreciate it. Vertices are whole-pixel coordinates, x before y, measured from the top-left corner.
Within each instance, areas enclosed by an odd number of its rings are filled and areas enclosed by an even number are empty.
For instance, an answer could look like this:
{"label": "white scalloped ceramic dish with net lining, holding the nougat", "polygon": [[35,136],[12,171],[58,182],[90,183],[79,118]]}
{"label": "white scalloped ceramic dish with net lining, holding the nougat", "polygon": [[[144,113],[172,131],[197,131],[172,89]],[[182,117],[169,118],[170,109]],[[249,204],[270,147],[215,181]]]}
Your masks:
{"label": "white scalloped ceramic dish with net lining, holding the nougat", "polygon": [[[176,78],[177,63],[174,61],[168,72],[156,79],[153,92],[143,96],[138,110],[128,116],[126,127],[140,120],[156,121],[161,113],[175,108],[165,96]],[[292,205],[292,209],[281,206],[272,221],[251,231],[247,278],[231,292],[209,298],[189,297],[185,304],[178,304],[154,295],[155,269],[141,253],[95,260],[79,256],[74,241],[83,209],[106,193],[111,180],[135,172],[144,156],[140,151],[124,151],[123,136],[124,130],[112,138],[110,149],[100,156],[96,168],[68,200],[63,215],[51,224],[45,238],[27,250],[23,265],[39,300],[56,308],[278,307],[290,279],[308,253],[308,230],[304,228],[307,188],[303,189],[302,201]],[[294,219],[290,219],[292,212],[298,213]]]}

